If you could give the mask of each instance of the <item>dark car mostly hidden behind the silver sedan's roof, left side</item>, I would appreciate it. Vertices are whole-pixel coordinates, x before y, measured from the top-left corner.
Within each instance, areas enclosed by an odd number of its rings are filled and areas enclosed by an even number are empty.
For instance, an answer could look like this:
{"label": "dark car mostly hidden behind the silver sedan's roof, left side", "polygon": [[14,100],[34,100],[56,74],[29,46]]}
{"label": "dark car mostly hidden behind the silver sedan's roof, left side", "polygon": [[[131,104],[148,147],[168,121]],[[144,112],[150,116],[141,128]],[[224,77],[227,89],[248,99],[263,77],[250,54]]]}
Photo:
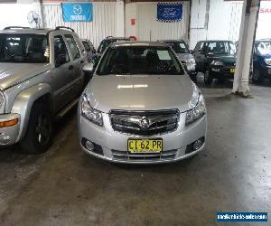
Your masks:
{"label": "dark car mostly hidden behind the silver sedan's roof, left side", "polygon": [[98,46],[98,52],[92,56],[92,63],[94,64],[94,68],[98,65],[98,61],[101,58],[103,52],[107,50],[107,47],[113,42],[122,42],[122,41],[130,41],[129,38],[125,37],[113,37],[107,36],[102,42],[100,42]]}

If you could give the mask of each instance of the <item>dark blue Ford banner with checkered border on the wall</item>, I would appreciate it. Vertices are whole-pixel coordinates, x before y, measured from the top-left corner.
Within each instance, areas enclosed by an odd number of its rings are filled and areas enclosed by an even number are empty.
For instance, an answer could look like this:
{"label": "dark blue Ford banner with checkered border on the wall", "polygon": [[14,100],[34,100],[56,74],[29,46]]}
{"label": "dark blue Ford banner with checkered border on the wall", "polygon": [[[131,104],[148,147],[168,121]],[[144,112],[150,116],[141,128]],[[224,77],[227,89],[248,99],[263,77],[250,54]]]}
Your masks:
{"label": "dark blue Ford banner with checkered border on the wall", "polygon": [[158,3],[157,21],[175,22],[182,20],[182,4],[180,3]]}

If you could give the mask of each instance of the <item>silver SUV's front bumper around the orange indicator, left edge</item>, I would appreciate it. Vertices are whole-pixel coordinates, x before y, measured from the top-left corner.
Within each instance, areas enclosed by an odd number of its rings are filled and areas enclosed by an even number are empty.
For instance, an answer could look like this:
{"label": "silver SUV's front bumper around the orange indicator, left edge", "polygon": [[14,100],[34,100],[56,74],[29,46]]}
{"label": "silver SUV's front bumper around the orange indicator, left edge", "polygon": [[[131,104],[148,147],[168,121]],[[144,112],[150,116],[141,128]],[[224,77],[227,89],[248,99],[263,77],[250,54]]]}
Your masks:
{"label": "silver SUV's front bumper around the orange indicator, left edge", "polygon": [[0,115],[0,123],[18,119],[18,123],[12,127],[0,127],[0,146],[8,146],[16,143],[20,131],[20,115],[19,114],[3,114]]}

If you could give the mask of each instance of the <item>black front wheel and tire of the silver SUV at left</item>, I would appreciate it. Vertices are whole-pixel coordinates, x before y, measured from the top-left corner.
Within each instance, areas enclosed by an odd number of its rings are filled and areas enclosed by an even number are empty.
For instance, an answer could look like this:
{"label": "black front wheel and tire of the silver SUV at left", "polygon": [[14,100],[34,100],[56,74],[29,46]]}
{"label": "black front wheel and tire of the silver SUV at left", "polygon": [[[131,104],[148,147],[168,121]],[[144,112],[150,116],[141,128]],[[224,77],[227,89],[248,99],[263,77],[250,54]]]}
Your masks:
{"label": "black front wheel and tire of the silver SUV at left", "polygon": [[34,103],[31,110],[28,127],[20,146],[28,154],[45,152],[52,141],[51,111],[42,103]]}

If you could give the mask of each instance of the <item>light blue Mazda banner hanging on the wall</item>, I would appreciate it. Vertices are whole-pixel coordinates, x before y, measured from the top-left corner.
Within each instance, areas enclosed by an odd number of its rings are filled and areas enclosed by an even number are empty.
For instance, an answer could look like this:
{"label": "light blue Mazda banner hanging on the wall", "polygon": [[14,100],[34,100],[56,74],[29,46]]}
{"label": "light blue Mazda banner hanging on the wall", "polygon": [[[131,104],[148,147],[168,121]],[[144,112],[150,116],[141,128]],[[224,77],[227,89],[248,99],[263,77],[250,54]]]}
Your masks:
{"label": "light blue Mazda banner hanging on the wall", "polygon": [[64,22],[89,22],[93,19],[91,3],[62,3]]}

